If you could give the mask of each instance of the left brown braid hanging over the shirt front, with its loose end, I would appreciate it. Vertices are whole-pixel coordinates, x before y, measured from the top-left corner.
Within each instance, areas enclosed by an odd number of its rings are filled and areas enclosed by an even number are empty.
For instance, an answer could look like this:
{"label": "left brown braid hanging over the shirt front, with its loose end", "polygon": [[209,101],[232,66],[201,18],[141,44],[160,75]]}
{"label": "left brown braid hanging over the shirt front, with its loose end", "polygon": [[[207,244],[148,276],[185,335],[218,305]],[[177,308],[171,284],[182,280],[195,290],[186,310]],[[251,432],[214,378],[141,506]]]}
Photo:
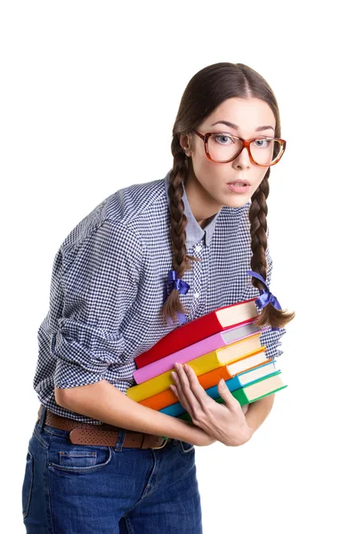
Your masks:
{"label": "left brown braid hanging over the shirt front, with its loose end", "polygon": [[[187,255],[187,247],[185,245],[187,226],[187,217],[184,214],[184,203],[182,202],[183,186],[182,182],[188,176],[189,163],[187,158],[182,152],[182,148],[177,138],[174,138],[172,142],[172,149],[174,153],[173,169],[169,178],[168,195],[170,198],[170,236],[172,243],[172,265],[174,271],[177,273],[177,278],[182,279],[185,271],[190,271],[191,262],[200,262],[199,258]],[[163,307],[160,310],[161,317],[166,321],[168,317],[172,320],[176,320],[176,313],[189,313],[185,306],[182,305],[180,300],[180,293],[177,289],[172,289],[171,293],[167,296]]]}

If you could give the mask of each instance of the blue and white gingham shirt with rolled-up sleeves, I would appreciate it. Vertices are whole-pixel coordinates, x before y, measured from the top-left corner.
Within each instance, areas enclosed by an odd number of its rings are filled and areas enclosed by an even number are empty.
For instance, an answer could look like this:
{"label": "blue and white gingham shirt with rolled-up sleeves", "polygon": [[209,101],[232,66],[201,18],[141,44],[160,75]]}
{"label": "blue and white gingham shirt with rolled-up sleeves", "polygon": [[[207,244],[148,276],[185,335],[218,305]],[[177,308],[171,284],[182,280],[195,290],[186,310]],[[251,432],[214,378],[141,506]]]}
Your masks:
{"label": "blue and white gingham shirt with rolled-up sleeves", "polygon": [[[54,386],[70,388],[105,378],[121,392],[135,384],[134,357],[150,349],[177,324],[158,316],[168,271],[172,269],[166,177],[117,190],[70,231],[54,257],[49,311],[38,328],[38,360],[33,386],[54,413],[85,423],[100,420],[61,408]],[[184,186],[183,186],[184,189]],[[190,285],[182,303],[187,320],[260,294],[251,284],[250,231],[245,206],[224,206],[202,229],[182,198],[188,219],[187,253],[193,263],[183,279]],[[267,236],[269,231],[267,231]],[[267,284],[272,260],[267,248]],[[283,307],[283,298],[276,295]],[[257,308],[257,312],[261,310]],[[263,332],[268,358],[285,328]]]}

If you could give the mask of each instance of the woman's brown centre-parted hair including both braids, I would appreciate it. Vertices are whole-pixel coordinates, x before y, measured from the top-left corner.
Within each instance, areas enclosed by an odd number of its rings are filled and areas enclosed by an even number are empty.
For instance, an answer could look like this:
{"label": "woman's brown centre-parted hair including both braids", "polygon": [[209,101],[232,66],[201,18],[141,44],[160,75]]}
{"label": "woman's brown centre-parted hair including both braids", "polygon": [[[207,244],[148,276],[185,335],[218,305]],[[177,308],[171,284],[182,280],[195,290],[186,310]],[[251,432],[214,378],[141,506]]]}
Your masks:
{"label": "woman's brown centre-parted hair including both braids", "polygon": [[[180,143],[182,134],[190,134],[198,129],[199,124],[210,115],[214,109],[228,98],[259,98],[270,106],[276,119],[275,137],[280,138],[279,108],[270,85],[254,69],[243,63],[221,62],[209,65],[201,69],[191,79],[184,93],[175,118],[173,127],[173,140],[171,143],[174,158],[173,169],[170,174],[168,195],[171,203],[170,210],[170,236],[172,242],[172,265],[176,271],[176,277],[182,279],[185,271],[191,269],[191,263],[200,261],[194,256],[187,255],[185,246],[187,217],[184,214],[182,202],[183,187],[190,172],[190,158],[187,158]],[[266,199],[270,193],[269,176],[271,167],[268,168],[260,186],[255,190],[251,198],[249,208],[249,221],[251,232],[251,270],[260,274],[266,280],[267,260],[265,251],[267,248],[267,220],[268,206]],[[252,277],[251,283],[258,289],[266,289],[263,282]],[[172,289],[160,310],[164,320],[171,318],[176,320],[176,313],[187,313],[182,305],[180,293]],[[277,310],[271,303],[264,306],[261,314],[255,320],[255,325],[271,328],[282,328],[290,320],[295,318],[295,312],[287,313]]]}

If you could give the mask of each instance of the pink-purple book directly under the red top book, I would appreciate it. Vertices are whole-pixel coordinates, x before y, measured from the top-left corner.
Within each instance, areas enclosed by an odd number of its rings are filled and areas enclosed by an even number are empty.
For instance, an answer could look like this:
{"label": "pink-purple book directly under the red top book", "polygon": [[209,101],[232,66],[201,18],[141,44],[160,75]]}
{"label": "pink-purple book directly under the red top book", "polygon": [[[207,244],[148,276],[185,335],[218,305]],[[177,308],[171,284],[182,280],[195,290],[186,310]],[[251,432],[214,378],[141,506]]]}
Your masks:
{"label": "pink-purple book directly under the red top book", "polygon": [[[214,336],[206,337],[205,339],[198,341],[198,343],[191,344],[180,351],[169,354],[160,360],[152,361],[148,365],[136,369],[134,371],[134,380],[136,384],[142,384],[142,382],[146,382],[146,380],[150,380],[150,378],[153,378],[154,376],[161,375],[162,373],[166,373],[166,371],[173,369],[176,361],[186,363],[199,356],[203,356],[203,354],[207,354],[207,352],[213,352],[228,344],[242,341],[257,333],[261,334],[267,328],[268,327],[256,327],[253,321],[240,325],[239,327],[227,328],[223,332],[218,332],[217,334],[214,334]],[[251,338],[248,344],[241,345],[244,347],[242,354],[255,351],[261,347],[258,336]]]}

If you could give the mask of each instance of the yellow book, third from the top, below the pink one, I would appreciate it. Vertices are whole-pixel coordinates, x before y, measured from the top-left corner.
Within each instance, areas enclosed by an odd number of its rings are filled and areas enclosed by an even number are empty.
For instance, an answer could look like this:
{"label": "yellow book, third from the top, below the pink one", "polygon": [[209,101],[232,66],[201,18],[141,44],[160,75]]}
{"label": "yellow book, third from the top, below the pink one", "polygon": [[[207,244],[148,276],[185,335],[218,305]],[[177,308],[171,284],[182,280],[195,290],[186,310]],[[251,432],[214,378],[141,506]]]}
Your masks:
{"label": "yellow book, third from the top, below the pink one", "polygon": [[[258,333],[251,337],[258,337],[259,340],[260,336],[261,333]],[[228,344],[212,352],[207,352],[203,356],[187,361],[187,365],[195,371],[197,376],[200,376],[215,368],[223,367],[232,361],[248,358],[255,354],[256,348],[253,351],[246,352],[246,341],[246,339],[240,339],[236,343]],[[261,344],[259,342],[257,350],[261,350]],[[154,376],[150,380],[142,382],[142,384],[129,387],[126,390],[127,397],[130,397],[133,401],[140,402],[157,393],[164,392],[171,384],[174,384],[174,379],[171,376],[173,370],[174,368],[166,371],[166,373]]]}

